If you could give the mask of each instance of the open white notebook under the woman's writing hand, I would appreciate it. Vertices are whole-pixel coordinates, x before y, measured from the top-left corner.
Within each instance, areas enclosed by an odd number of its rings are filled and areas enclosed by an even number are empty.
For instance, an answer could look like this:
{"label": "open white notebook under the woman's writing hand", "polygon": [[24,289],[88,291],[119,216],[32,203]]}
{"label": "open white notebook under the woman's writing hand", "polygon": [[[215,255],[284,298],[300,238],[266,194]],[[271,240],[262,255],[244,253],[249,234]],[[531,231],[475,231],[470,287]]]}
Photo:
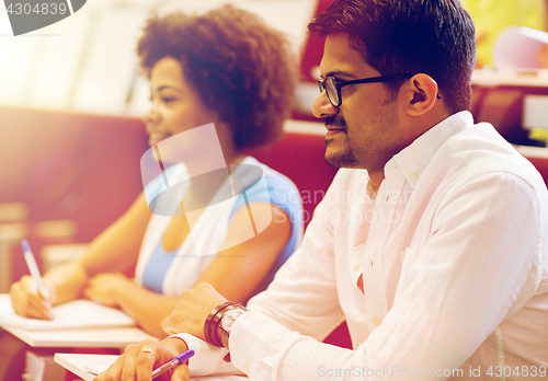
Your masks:
{"label": "open white notebook under the woman's writing hand", "polygon": [[0,325],[28,331],[87,330],[135,326],[124,312],[94,303],[75,300],[53,309],[52,321],[25,319],[15,314],[8,295],[0,295]]}

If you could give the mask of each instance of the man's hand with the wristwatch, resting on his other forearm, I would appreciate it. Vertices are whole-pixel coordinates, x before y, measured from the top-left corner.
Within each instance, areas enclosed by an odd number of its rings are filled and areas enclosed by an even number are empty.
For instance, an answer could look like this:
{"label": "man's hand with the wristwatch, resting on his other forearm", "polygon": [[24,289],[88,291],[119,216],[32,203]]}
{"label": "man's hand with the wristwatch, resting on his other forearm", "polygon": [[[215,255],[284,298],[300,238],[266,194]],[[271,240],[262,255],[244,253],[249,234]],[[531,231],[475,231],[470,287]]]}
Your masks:
{"label": "man's hand with the wristwatch, resting on his other forearm", "polygon": [[162,328],[169,335],[189,333],[202,339],[204,324],[209,312],[227,299],[208,284],[197,284],[194,288],[183,291],[171,315],[162,322]]}

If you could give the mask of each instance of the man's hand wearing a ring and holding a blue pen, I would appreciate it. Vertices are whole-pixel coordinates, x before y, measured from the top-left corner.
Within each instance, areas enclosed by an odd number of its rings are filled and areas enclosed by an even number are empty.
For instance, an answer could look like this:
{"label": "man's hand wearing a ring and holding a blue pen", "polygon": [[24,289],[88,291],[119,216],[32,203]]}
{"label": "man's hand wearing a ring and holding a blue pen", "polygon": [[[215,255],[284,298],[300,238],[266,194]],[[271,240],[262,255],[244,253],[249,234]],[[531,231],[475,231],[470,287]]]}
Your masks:
{"label": "man's hand wearing a ring and holding a blue pen", "polygon": [[[179,338],[165,338],[161,342],[148,338],[140,344],[129,344],[124,355],[93,381],[149,381],[152,379],[153,369],[187,349],[184,342]],[[180,365],[155,380],[186,381],[189,377],[189,367]]]}

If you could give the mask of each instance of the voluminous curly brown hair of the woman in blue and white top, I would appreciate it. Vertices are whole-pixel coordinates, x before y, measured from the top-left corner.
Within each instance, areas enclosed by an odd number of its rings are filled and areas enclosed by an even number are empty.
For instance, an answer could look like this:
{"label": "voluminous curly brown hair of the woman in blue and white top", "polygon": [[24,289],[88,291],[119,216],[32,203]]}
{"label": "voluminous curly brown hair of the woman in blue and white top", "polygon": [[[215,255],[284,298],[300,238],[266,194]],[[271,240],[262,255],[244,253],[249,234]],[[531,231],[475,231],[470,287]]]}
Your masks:
{"label": "voluminous curly brown hair of the woman in blue and white top", "polygon": [[296,66],[286,37],[227,5],[202,15],[148,20],[137,45],[142,69],[173,57],[202,102],[218,112],[238,150],[272,143],[290,116]]}

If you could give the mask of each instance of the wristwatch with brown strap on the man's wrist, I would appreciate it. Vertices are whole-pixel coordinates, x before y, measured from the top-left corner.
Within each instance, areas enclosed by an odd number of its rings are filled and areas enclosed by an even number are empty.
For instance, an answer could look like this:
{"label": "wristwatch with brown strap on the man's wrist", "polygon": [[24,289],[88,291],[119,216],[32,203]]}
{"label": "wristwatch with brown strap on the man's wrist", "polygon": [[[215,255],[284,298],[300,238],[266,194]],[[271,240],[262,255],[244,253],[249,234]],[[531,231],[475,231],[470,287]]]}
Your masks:
{"label": "wristwatch with brown strap on the man's wrist", "polygon": [[235,321],[240,318],[246,308],[238,303],[226,302],[217,305],[207,316],[204,324],[204,335],[207,343],[228,349],[228,338]]}

